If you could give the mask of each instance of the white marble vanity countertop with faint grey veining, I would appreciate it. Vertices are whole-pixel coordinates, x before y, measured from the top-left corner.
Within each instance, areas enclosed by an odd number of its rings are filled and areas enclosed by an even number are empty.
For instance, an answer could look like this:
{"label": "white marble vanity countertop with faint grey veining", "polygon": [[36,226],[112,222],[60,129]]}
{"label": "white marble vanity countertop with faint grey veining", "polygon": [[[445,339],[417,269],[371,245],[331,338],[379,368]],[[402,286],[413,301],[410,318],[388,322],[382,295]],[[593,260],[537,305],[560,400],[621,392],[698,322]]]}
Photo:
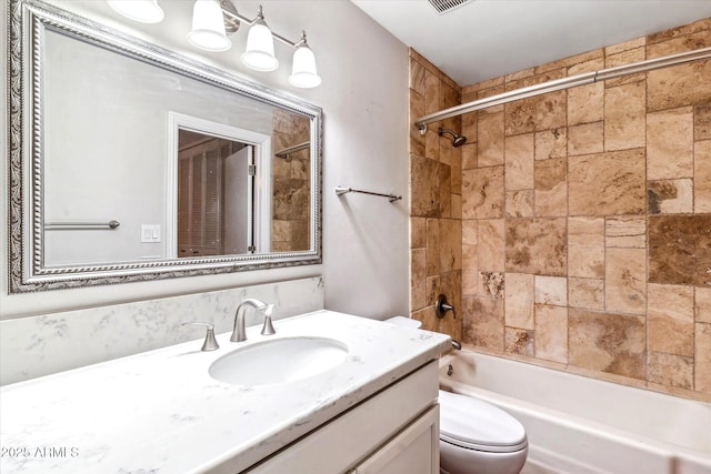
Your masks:
{"label": "white marble vanity countertop with faint grey veining", "polygon": [[[277,334],[201,352],[202,341],[118,359],[0,391],[0,471],[240,472],[450,347],[449,336],[332,311],[274,322]],[[344,363],[283,385],[229,385],[208,367],[267,339],[333,337]],[[81,351],[81,347],[77,347]]]}

